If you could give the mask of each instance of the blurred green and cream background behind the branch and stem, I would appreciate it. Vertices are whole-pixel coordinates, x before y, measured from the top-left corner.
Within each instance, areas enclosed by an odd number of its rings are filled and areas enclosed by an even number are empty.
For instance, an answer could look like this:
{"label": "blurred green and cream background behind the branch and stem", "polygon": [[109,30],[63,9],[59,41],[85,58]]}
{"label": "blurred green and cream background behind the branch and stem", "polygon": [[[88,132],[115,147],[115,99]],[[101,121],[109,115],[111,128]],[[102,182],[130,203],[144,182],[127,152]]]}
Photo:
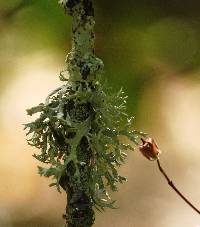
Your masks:
{"label": "blurred green and cream background behind the branch and stem", "polygon": [[[71,48],[71,18],[57,0],[0,0],[0,227],[57,227],[65,193],[37,175],[25,141],[25,109],[60,85]],[[104,77],[123,87],[135,128],[155,138],[161,162],[200,207],[200,2],[94,0],[96,53]],[[138,151],[120,172],[120,209],[96,227],[199,227],[200,219]]]}

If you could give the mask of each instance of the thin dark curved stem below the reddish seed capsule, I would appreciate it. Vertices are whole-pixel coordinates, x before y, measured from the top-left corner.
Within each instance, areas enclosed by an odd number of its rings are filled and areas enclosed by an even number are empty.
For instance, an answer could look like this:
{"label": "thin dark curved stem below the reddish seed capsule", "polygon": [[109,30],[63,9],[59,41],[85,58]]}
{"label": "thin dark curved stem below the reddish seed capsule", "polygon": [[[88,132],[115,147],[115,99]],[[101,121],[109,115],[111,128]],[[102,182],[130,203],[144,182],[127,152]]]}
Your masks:
{"label": "thin dark curved stem below the reddish seed capsule", "polygon": [[163,174],[165,179],[167,180],[168,184],[173,188],[173,190],[192,208],[194,209],[198,214],[200,214],[200,211],[176,188],[176,186],[173,184],[173,182],[169,179],[163,168],[161,167],[159,159],[157,159],[157,164],[160,172]]}

